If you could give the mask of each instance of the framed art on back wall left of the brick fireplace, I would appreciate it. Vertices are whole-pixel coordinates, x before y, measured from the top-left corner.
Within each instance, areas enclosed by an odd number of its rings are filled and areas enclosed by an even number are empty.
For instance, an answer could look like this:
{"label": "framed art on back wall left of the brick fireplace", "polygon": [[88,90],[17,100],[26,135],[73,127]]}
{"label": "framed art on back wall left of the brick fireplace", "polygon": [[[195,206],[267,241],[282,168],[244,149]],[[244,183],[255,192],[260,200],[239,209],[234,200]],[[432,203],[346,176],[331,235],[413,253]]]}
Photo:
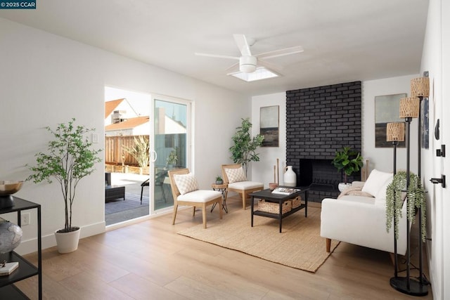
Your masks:
{"label": "framed art on back wall left of the brick fireplace", "polygon": [[279,105],[260,108],[259,133],[264,136],[262,147],[278,147]]}

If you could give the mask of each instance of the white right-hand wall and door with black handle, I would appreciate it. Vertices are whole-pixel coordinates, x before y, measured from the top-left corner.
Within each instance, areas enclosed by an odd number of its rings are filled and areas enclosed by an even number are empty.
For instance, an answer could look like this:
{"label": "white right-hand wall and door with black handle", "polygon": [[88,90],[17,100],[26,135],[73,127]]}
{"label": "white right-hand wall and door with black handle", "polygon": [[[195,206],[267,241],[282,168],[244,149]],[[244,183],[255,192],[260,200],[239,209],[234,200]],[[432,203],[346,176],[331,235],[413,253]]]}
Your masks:
{"label": "white right-hand wall and door with black handle", "polygon": [[[430,266],[430,279],[434,299],[450,299],[450,205],[449,188],[433,185],[430,178],[449,175],[450,160],[436,157],[441,145],[449,145],[449,72],[450,72],[450,13],[448,1],[430,0],[428,22],[423,46],[421,72],[430,72],[430,149],[423,151],[423,182],[428,191],[427,197],[427,252]],[[440,119],[439,140],[434,137],[437,119]],[[448,151],[447,151],[448,152]],[[447,179],[447,185],[449,180]]]}

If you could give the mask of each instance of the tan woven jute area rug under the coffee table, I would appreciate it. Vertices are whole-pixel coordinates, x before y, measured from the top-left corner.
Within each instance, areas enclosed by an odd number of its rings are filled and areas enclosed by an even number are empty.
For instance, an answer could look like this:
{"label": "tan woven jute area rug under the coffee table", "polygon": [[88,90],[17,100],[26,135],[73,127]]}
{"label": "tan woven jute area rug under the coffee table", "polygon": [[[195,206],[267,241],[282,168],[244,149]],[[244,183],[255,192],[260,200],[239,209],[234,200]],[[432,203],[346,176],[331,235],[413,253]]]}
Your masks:
{"label": "tan woven jute area rug under the coffee table", "polygon": [[317,207],[308,207],[307,218],[302,209],[283,219],[282,233],[278,220],[263,216],[254,216],[250,227],[250,209],[246,209],[208,221],[207,229],[199,224],[179,234],[315,273],[339,244],[332,240],[327,253],[320,226],[321,209]]}

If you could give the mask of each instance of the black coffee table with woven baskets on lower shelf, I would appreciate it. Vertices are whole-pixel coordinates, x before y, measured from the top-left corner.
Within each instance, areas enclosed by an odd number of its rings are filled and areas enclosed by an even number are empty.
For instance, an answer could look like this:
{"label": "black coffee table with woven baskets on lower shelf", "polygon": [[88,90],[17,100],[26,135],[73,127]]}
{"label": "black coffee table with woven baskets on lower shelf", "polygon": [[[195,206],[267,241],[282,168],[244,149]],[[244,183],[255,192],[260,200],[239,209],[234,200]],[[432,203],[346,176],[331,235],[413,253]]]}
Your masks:
{"label": "black coffee table with woven baskets on lower shelf", "polygon": [[[300,187],[300,188],[296,188],[296,189],[300,189],[299,192],[297,193],[293,193],[290,195],[281,195],[281,194],[274,194],[272,193],[272,191],[267,188],[266,190],[260,190],[259,192],[255,192],[255,193],[251,193],[250,196],[252,197],[252,202],[250,203],[250,208],[251,208],[251,214],[252,214],[252,227],[253,227],[253,216],[265,216],[267,218],[272,218],[272,219],[278,219],[280,221],[280,233],[281,233],[281,227],[282,227],[282,220],[287,217],[290,216],[291,214],[294,214],[297,211],[300,211],[300,209],[304,209],[304,217],[307,218],[308,216],[308,190],[309,188],[307,187]],[[286,200],[289,199],[293,199],[299,195],[304,195],[304,204],[300,204],[299,207],[295,207],[294,209],[291,209],[290,211],[286,212],[285,214],[283,214],[283,202],[285,202]],[[254,204],[254,200],[255,198],[257,199],[262,199],[262,200],[266,200],[266,202],[274,202],[274,203],[279,203],[280,204],[280,211],[278,214],[273,214],[270,212],[266,212],[266,211],[259,211],[259,210],[255,210],[253,208],[253,204]]]}

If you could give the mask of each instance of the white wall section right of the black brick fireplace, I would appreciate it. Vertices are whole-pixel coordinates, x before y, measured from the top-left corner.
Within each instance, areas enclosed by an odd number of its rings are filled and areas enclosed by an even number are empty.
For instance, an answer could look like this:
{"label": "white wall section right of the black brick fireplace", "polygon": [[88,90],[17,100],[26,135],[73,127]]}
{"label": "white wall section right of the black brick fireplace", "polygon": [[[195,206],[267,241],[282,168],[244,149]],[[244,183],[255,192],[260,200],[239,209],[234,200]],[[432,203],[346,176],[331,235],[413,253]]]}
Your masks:
{"label": "white wall section right of the black brick fireplace", "polygon": [[[375,148],[375,96],[406,93],[411,95],[411,79],[419,77],[412,74],[402,77],[364,81],[362,103],[362,155],[369,160],[369,170],[392,172],[392,148]],[[411,171],[417,173],[417,119],[411,122]],[[406,169],[406,148],[397,148],[397,170]]]}

